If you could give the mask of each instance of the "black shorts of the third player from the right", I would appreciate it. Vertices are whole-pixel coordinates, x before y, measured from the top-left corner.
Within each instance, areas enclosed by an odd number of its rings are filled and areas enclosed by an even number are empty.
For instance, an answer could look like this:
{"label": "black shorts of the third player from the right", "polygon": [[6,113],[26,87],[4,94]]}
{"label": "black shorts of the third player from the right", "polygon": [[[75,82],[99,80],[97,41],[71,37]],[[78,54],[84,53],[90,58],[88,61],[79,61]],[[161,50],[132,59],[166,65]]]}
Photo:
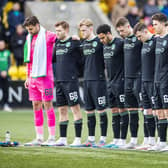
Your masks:
{"label": "black shorts of the third player from the right", "polygon": [[126,108],[141,107],[141,77],[125,78],[124,93]]}

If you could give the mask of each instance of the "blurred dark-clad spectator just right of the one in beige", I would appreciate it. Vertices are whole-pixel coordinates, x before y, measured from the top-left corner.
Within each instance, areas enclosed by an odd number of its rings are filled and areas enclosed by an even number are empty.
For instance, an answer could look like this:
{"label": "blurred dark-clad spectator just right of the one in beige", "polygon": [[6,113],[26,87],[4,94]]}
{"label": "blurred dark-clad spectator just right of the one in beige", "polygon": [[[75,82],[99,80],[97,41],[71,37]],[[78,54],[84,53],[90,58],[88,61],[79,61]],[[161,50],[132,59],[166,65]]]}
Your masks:
{"label": "blurred dark-clad spectator just right of the one in beige", "polygon": [[131,27],[134,27],[136,23],[139,22],[139,19],[140,19],[138,7],[134,6],[130,8],[129,13],[126,16],[126,18],[129,20]]}

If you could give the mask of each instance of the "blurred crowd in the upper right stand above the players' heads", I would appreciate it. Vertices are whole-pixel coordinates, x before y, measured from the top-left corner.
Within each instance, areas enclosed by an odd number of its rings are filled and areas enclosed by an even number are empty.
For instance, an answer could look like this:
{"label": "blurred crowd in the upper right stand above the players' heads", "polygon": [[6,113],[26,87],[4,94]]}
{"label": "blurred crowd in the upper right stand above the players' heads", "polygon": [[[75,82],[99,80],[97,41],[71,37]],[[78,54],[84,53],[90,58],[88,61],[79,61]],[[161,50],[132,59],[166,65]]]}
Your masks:
{"label": "blurred crowd in the upper right stand above the players' heads", "polygon": [[114,25],[119,17],[125,16],[131,26],[142,21],[152,33],[151,16],[157,12],[168,16],[168,0],[100,0],[100,7]]}

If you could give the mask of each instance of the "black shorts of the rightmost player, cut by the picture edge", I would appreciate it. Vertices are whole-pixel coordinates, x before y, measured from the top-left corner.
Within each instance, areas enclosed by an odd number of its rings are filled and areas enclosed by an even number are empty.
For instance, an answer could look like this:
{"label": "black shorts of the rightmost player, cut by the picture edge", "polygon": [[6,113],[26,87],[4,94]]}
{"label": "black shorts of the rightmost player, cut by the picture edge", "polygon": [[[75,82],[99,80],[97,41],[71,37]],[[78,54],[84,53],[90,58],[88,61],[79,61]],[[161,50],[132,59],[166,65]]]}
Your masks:
{"label": "black shorts of the rightmost player, cut by the picture edge", "polygon": [[168,109],[168,81],[154,84],[155,109]]}

